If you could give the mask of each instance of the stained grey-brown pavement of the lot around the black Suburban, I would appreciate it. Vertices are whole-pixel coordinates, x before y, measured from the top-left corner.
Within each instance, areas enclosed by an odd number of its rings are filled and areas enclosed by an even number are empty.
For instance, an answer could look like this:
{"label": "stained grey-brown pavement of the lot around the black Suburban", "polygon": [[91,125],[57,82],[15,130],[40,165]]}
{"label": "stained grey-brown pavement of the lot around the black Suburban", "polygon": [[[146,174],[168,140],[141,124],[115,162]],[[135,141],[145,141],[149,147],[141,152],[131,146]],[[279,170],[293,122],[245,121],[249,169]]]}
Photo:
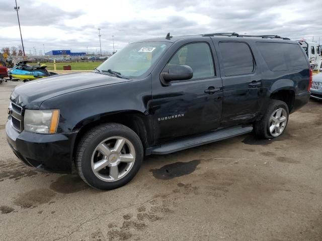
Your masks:
{"label": "stained grey-brown pavement of the lot around the black Suburban", "polygon": [[126,186],[99,191],[16,158],[5,124],[17,84],[0,84],[0,240],[322,240],[322,102],[274,141],[149,156]]}

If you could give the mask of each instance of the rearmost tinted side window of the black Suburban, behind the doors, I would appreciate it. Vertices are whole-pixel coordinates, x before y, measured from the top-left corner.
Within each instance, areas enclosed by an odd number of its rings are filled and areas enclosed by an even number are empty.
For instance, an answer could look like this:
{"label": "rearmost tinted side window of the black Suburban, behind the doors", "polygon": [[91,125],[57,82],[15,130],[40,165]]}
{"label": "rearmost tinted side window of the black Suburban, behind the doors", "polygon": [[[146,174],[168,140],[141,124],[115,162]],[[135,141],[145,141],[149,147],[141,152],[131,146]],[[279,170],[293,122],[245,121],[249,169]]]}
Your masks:
{"label": "rearmost tinted side window of the black Suburban, behind the doors", "polygon": [[257,42],[257,46],[272,71],[308,68],[306,56],[297,44]]}

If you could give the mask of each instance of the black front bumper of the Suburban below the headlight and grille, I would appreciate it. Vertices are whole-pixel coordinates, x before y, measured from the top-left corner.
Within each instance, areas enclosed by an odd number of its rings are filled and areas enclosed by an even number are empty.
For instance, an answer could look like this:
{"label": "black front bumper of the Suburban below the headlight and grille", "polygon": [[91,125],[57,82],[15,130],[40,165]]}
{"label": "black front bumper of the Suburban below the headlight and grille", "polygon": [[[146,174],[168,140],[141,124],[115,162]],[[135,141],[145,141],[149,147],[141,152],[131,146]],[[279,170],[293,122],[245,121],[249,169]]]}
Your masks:
{"label": "black front bumper of the Suburban below the headlight and grille", "polygon": [[77,133],[36,134],[18,133],[6,124],[7,140],[15,155],[28,166],[50,172],[70,173],[72,153]]}

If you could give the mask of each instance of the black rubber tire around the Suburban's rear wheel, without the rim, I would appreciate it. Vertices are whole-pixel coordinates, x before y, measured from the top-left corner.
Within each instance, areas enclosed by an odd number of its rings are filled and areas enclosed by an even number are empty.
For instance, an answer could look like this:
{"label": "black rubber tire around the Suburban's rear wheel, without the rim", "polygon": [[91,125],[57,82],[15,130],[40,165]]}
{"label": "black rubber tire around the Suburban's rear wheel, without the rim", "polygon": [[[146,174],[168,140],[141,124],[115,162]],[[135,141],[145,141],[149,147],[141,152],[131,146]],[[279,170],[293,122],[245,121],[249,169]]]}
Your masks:
{"label": "black rubber tire around the Suburban's rear wheel, without the rim", "polygon": [[289,117],[288,106],[285,102],[283,102],[281,100],[272,99],[270,101],[270,104],[269,104],[267,110],[266,110],[265,115],[259,121],[255,122],[255,124],[254,124],[254,132],[258,138],[261,138],[261,139],[275,138],[269,131],[269,125],[270,125],[269,122],[270,122],[270,118],[271,118],[272,114],[278,108],[283,108],[287,113],[287,120],[286,120],[285,127],[284,127],[283,131],[281,132],[281,134],[279,134],[278,136],[283,135],[283,133],[286,129],[287,123],[288,123],[288,117]]}

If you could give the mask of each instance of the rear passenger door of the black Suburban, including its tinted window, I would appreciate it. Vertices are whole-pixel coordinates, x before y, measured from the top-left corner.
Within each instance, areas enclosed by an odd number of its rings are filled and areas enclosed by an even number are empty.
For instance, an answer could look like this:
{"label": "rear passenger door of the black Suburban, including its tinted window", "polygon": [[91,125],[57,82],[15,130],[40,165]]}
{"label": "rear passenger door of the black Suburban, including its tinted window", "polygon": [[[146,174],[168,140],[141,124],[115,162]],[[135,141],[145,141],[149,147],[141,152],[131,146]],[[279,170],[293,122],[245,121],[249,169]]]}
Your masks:
{"label": "rear passenger door of the black Suburban, including its tinted window", "polygon": [[212,39],[218,48],[223,82],[221,125],[247,123],[260,111],[261,71],[248,43]]}

